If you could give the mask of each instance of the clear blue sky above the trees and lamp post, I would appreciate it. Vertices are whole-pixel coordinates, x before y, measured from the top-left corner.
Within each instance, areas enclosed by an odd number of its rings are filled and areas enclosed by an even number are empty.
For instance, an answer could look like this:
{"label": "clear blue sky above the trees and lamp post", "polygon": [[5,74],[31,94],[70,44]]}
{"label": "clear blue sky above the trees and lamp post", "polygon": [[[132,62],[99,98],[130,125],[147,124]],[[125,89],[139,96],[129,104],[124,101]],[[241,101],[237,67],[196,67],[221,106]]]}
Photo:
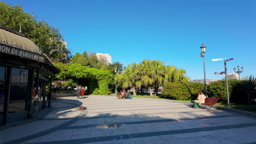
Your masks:
{"label": "clear blue sky above the trees and lamp post", "polygon": [[[187,71],[191,79],[203,79],[199,53],[206,47],[206,78],[222,79],[224,62],[234,58],[228,73],[245,67],[241,77],[256,76],[255,0],[88,0],[24,1],[26,13],[34,13],[50,26],[60,28],[72,52],[109,53],[112,62],[124,65],[144,58],[159,59]],[[166,63],[168,62],[168,63]]]}

